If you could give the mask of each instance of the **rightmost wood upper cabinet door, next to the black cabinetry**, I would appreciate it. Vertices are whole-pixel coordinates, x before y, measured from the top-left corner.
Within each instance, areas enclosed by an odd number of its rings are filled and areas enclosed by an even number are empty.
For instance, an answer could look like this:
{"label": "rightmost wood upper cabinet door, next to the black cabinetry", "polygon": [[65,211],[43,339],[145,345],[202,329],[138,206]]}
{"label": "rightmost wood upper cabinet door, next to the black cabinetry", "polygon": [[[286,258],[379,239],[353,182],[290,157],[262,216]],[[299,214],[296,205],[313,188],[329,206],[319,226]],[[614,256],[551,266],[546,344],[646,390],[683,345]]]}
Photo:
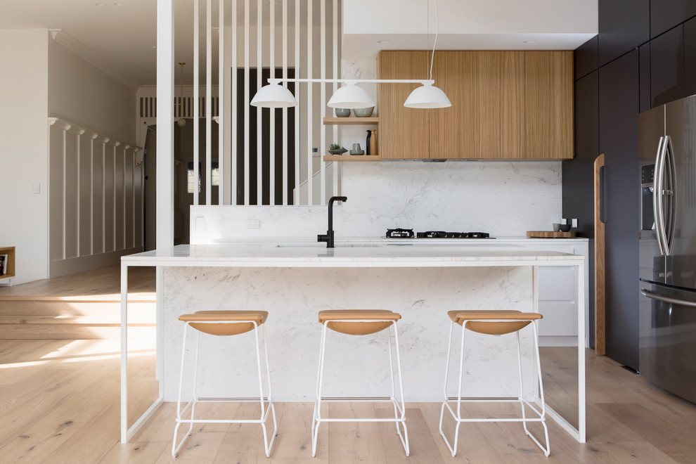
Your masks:
{"label": "rightmost wood upper cabinet door, next to the black cabinetry", "polygon": [[524,155],[531,160],[573,157],[571,51],[524,52]]}

